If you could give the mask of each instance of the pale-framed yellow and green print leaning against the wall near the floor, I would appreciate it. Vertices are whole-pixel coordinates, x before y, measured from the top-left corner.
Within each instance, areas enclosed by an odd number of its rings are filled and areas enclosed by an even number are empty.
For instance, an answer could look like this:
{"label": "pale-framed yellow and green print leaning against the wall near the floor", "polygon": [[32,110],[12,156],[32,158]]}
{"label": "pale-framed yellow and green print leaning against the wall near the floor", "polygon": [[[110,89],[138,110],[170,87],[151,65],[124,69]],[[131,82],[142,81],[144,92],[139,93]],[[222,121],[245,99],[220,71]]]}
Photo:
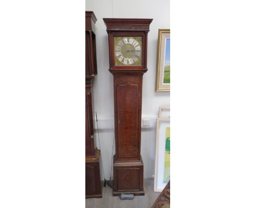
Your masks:
{"label": "pale-framed yellow and green print leaning against the wall near the floor", "polygon": [[156,121],[154,191],[161,192],[170,180],[170,118]]}

